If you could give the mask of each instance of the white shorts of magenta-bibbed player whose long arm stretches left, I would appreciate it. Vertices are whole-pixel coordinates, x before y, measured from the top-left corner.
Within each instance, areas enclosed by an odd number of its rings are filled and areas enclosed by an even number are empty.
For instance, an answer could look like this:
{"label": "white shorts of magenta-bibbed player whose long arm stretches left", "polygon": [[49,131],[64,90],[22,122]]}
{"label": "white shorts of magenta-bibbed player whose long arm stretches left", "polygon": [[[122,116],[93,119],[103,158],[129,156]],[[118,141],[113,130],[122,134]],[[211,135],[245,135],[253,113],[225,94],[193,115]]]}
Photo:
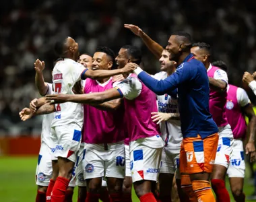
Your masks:
{"label": "white shorts of magenta-bibbed player whose long arm stretches left", "polygon": [[162,147],[151,148],[138,143],[130,152],[131,178],[133,182],[140,180],[156,181],[160,172]]}

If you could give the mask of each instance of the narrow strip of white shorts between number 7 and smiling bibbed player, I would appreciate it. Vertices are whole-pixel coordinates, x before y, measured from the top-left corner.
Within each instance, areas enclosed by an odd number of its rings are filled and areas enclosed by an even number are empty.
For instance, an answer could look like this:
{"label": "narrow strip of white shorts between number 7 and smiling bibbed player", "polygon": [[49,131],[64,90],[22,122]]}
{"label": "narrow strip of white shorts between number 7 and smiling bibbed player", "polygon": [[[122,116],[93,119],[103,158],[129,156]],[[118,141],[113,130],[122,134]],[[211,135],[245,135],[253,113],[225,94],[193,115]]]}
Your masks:
{"label": "narrow strip of white shorts between number 7 and smiling bibbed player", "polygon": [[84,167],[83,160],[86,150],[84,149],[84,143],[81,143],[80,149],[77,154],[77,161],[75,163],[75,185],[79,187],[86,187],[86,180],[84,179]]}

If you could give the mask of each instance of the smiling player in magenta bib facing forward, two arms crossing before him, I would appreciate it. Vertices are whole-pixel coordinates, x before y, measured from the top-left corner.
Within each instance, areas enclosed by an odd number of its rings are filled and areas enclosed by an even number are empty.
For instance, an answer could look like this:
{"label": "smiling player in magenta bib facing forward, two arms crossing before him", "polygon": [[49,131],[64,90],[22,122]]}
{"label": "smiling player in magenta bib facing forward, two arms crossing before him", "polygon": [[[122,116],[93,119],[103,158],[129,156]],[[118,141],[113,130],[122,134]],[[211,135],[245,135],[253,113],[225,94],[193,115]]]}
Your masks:
{"label": "smiling player in magenta bib facing forward, two arms crossing before him", "polygon": [[[100,46],[94,53],[92,69],[110,70],[114,62],[113,50]],[[98,80],[88,78],[84,84],[84,94],[104,92],[110,88],[113,88],[112,77]],[[111,200],[121,201],[125,177],[124,110],[121,106],[121,99],[95,107],[84,105],[84,177],[88,187],[86,201],[98,201],[103,176],[107,178]]]}

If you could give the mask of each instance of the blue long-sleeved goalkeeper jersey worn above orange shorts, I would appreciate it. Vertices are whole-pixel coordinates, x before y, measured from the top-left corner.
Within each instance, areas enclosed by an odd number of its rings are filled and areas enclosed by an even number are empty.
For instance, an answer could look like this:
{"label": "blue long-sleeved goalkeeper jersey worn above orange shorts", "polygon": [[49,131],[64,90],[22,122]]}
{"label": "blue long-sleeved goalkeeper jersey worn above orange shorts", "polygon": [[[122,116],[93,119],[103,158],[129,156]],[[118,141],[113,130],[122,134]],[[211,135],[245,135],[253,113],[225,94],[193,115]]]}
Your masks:
{"label": "blue long-sleeved goalkeeper jersey worn above orange shorts", "polygon": [[139,79],[158,95],[172,94],[178,88],[179,111],[181,114],[181,131],[183,138],[205,138],[218,133],[218,127],[209,110],[209,79],[205,66],[188,55],[177,70],[164,80],[158,81],[145,71]]}

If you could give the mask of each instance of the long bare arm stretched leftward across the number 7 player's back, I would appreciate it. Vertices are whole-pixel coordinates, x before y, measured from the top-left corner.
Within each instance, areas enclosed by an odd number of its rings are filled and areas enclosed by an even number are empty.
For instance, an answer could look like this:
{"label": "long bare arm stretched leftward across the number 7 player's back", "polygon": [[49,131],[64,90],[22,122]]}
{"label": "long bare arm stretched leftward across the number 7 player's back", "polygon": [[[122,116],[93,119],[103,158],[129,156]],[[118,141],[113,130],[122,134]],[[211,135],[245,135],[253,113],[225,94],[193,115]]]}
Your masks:
{"label": "long bare arm stretched leftward across the number 7 player's back", "polygon": [[104,92],[71,95],[71,94],[55,94],[46,96],[46,100],[53,104],[64,102],[75,102],[81,104],[101,104],[109,100],[115,100],[117,98],[123,98],[123,94],[117,88],[111,88]]}

